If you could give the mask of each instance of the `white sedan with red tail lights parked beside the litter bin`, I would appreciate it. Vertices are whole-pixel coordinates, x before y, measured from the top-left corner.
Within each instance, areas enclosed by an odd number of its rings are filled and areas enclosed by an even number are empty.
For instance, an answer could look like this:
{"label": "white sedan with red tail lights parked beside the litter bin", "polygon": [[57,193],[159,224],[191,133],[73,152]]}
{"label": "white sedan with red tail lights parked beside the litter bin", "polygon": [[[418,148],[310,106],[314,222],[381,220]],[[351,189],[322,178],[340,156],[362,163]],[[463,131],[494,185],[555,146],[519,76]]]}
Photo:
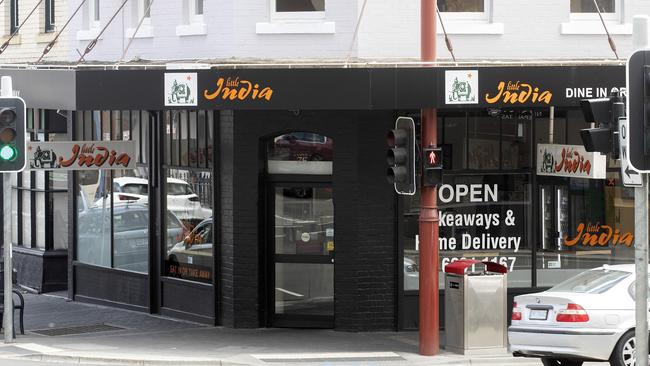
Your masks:
{"label": "white sedan with red tail lights parked beside the litter bin", "polygon": [[551,289],[516,296],[508,328],[514,356],[549,365],[633,366],[634,265],[604,265]]}

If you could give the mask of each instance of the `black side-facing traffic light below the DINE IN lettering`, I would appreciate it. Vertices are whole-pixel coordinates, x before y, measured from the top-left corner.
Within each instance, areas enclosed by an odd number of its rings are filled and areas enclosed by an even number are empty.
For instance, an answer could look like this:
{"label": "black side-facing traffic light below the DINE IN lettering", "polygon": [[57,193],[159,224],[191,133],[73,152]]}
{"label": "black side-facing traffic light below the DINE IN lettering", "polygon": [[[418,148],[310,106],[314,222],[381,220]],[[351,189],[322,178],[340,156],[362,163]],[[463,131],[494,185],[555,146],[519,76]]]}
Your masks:
{"label": "black side-facing traffic light below the DINE IN lettering", "polygon": [[598,124],[580,130],[585,150],[612,153],[612,158],[618,159],[618,120],[625,117],[625,102],[618,91],[608,98],[583,99],[580,106],[585,121]]}

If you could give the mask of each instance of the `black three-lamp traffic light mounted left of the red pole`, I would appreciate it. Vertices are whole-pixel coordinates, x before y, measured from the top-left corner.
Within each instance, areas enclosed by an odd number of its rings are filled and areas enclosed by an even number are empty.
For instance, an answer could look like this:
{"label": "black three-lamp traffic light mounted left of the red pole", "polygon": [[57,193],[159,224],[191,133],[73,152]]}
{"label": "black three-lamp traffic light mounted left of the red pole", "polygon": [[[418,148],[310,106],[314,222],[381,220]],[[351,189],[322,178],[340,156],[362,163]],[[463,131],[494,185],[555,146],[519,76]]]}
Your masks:
{"label": "black three-lamp traffic light mounted left of the red pole", "polygon": [[398,194],[415,194],[415,122],[413,118],[399,117],[395,128],[388,131],[386,178]]}

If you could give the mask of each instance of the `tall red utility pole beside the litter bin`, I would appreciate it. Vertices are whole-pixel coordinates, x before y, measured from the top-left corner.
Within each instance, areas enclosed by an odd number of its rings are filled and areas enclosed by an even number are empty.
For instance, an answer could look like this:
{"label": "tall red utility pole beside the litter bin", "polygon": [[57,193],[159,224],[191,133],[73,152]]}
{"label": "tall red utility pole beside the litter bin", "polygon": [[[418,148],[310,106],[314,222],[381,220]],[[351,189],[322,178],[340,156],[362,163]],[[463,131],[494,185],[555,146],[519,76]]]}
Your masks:
{"label": "tall red utility pole beside the litter bin", "polygon": [[[436,0],[420,0],[420,50],[422,61],[436,60]],[[424,108],[422,148],[437,144],[437,113]],[[440,351],[438,328],[438,189],[422,187],[420,199],[420,354]]]}

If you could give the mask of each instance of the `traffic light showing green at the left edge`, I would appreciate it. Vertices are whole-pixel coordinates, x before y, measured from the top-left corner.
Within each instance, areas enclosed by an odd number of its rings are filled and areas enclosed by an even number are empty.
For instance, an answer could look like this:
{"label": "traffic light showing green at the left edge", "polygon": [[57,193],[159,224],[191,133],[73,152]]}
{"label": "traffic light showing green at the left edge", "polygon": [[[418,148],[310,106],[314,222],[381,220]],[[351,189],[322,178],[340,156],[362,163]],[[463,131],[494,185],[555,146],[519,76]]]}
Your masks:
{"label": "traffic light showing green at the left edge", "polygon": [[0,172],[20,172],[26,164],[25,101],[0,97]]}

